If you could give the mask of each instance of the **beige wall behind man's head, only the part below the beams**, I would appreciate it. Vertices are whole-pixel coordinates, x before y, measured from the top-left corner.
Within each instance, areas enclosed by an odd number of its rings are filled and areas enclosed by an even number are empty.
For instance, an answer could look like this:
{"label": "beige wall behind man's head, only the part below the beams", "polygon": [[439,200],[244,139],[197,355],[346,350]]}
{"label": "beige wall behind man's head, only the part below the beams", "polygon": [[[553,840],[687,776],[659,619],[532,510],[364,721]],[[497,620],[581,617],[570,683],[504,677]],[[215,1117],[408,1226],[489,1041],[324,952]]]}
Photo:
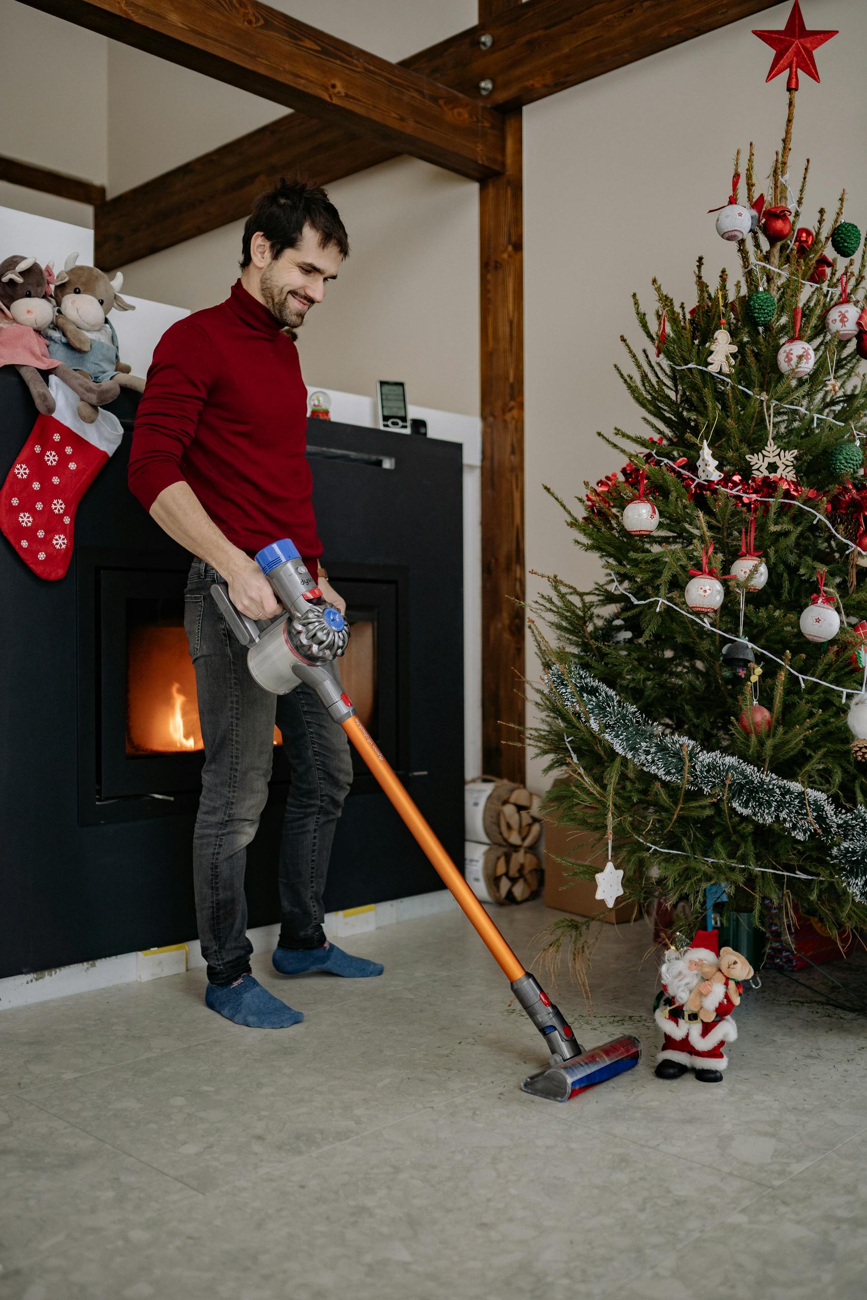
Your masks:
{"label": "beige wall behind man's head, only the part below the beams", "polygon": [[[308,382],[373,395],[407,384],[416,406],[478,415],[478,186],[395,159],[329,186],[351,255],[299,334]],[[238,221],[123,268],[139,298],[220,302],[238,274]]]}

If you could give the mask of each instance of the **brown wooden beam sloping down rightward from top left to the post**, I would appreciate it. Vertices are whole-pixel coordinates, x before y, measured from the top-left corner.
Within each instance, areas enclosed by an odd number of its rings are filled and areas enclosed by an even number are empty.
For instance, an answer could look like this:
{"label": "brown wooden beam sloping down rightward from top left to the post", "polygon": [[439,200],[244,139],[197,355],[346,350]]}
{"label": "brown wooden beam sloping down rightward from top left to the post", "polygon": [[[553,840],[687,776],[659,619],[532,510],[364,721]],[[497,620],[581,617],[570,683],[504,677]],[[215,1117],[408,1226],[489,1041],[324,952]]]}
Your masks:
{"label": "brown wooden beam sloping down rightward from top left to the post", "polygon": [[259,0],[25,4],[474,181],[503,168],[503,121],[478,96],[438,86]]}

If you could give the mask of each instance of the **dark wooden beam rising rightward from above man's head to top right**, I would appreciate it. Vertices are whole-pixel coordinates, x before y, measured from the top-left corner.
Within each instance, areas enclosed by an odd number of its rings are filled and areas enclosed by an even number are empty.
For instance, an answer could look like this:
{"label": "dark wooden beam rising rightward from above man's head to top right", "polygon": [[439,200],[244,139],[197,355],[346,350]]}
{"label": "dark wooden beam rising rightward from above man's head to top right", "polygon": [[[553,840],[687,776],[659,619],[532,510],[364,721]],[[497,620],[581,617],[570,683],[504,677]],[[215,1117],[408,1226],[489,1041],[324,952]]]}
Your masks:
{"label": "dark wooden beam rising rightward from above man's head to top right", "polygon": [[[529,0],[519,5],[499,0],[474,27],[396,66],[477,99],[478,83],[489,78],[494,88],[485,103],[499,108],[516,99],[532,103],[767,8],[772,6],[755,0]],[[621,35],[619,23],[625,25]],[[493,38],[487,49],[480,44],[482,35]],[[300,114],[281,118],[109,199],[96,212],[97,259],[116,268],[216,230],[246,216],[256,195],[281,174],[300,173],[328,183],[398,152],[374,148],[351,131]],[[190,202],[185,200],[187,185]]]}

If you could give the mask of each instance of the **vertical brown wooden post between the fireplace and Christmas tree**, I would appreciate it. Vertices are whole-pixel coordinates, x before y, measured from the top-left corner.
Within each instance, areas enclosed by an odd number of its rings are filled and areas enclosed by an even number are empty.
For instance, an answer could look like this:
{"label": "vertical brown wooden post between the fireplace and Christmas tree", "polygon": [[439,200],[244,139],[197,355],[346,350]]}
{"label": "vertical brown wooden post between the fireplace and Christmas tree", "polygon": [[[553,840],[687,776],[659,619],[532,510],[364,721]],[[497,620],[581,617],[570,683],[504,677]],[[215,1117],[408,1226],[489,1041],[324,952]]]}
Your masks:
{"label": "vertical brown wooden post between the fireplace and Christmas tree", "polygon": [[[482,771],[524,780],[524,192],[521,110],[482,181]],[[519,602],[519,603],[516,603]],[[508,744],[517,741],[517,745]]]}

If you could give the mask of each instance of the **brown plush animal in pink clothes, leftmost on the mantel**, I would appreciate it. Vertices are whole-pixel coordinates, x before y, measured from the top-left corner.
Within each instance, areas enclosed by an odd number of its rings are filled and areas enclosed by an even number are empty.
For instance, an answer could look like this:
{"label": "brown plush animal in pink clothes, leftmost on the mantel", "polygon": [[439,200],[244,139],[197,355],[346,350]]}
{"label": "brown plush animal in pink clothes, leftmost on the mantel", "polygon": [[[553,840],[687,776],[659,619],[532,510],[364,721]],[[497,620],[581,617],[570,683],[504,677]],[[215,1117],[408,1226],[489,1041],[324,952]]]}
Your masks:
{"label": "brown plush animal in pink clothes, leftmost on the mantel", "polygon": [[96,407],[113,402],[120,387],[114,382],[94,384],[88,374],[81,374],[62,360],[49,356],[40,330],[51,325],[55,315],[53,303],[47,298],[48,289],[55,283],[51,263],[43,269],[35,257],[19,254],[0,261],[0,365],[14,365],[30,389],[36,410],[44,415],[55,413],[55,399],[40,372],[53,370],[92,412],[92,422]]}

